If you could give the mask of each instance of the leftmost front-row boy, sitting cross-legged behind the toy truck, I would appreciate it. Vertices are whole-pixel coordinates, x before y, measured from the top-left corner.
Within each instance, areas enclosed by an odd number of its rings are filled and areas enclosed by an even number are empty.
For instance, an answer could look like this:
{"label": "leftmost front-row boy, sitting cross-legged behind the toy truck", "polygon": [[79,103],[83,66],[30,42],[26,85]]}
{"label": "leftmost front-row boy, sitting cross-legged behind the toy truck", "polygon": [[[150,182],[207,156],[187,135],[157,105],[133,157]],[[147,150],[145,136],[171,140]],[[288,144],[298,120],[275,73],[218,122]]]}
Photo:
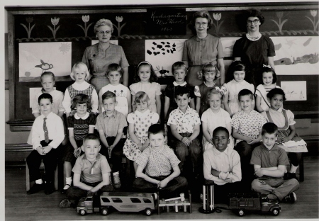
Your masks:
{"label": "leftmost front-row boy, sitting cross-legged behind the toy truck", "polygon": [[99,137],[94,134],[86,135],[81,148],[84,154],[77,158],[72,169],[73,186],[67,189],[67,198],[60,202],[60,208],[75,207],[79,199],[88,193],[100,195],[102,192],[113,191],[113,186],[110,185],[111,168],[106,157],[99,154]]}

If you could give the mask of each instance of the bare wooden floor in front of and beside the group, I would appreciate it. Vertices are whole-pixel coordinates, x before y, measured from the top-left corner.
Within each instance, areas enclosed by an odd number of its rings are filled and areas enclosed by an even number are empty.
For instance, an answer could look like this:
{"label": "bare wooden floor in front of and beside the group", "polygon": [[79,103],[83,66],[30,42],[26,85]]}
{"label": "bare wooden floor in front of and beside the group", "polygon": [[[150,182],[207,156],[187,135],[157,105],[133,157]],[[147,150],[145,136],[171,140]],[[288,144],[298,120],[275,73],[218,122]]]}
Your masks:
{"label": "bare wooden floor in front of and beside the group", "polygon": [[[305,157],[305,181],[296,191],[297,202],[281,203],[281,213],[274,217],[269,214],[250,213],[245,219],[318,219],[318,159],[319,157]],[[43,191],[33,195],[26,195],[26,171],[24,168],[6,169],[5,181],[5,220],[203,220],[203,219],[237,219],[230,210],[202,214],[198,212],[200,203],[193,204],[193,213],[162,212],[147,217],[140,213],[113,212],[107,216],[98,213],[84,217],[77,214],[73,208],[59,208],[60,200],[64,196],[56,191],[46,196]],[[215,206],[227,207],[217,204]],[[2,220],[2,219],[1,219]]]}

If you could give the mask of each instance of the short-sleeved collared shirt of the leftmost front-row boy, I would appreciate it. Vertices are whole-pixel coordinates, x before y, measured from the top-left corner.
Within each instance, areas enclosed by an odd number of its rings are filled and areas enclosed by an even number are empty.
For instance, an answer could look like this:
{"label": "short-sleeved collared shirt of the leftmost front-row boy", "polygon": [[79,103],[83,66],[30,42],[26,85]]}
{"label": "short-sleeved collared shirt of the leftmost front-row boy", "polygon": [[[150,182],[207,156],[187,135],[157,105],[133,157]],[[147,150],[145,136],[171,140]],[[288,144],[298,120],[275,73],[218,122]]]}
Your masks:
{"label": "short-sleeved collared shirt of the leftmost front-row boy", "polygon": [[102,154],[96,156],[96,161],[91,163],[86,159],[86,155],[77,158],[72,169],[74,174],[81,175],[81,181],[86,183],[96,183],[103,180],[102,174],[110,173],[111,168],[108,165],[106,157]]}

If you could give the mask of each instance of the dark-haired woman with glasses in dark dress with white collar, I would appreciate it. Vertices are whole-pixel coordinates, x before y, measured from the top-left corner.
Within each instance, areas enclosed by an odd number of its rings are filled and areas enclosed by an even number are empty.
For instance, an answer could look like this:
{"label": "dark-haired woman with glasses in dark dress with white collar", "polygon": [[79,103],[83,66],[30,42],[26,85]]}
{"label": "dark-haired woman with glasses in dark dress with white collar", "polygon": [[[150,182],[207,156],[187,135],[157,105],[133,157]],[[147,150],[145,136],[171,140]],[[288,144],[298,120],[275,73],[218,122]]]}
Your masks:
{"label": "dark-haired woman with glasses in dark dress with white collar", "polygon": [[[245,80],[257,86],[262,84],[260,69],[269,65],[274,69],[274,43],[259,33],[259,26],[264,23],[264,16],[258,9],[250,9],[245,14],[247,33],[236,40],[233,47],[234,60],[241,60],[246,64]],[[232,73],[233,74],[233,73]]]}

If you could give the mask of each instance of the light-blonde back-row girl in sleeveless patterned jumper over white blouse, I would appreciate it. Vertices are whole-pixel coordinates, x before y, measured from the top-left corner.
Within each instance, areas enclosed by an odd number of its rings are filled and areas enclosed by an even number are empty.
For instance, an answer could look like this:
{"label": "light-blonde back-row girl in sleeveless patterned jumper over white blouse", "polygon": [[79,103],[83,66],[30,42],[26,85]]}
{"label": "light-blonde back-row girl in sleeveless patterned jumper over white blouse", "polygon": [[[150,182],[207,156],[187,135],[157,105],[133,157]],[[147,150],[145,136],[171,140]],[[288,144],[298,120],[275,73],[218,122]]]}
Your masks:
{"label": "light-blonde back-row girl in sleeveless patterned jumper over white blouse", "polygon": [[72,116],[75,113],[75,110],[71,109],[71,105],[74,96],[77,94],[86,94],[89,96],[89,103],[91,103],[92,106],[92,109],[89,110],[89,113],[98,113],[99,98],[94,86],[86,82],[90,77],[86,64],[82,62],[75,63],[72,67],[70,77],[75,82],[74,84],[68,86],[65,90],[65,98],[62,102],[67,117]]}

